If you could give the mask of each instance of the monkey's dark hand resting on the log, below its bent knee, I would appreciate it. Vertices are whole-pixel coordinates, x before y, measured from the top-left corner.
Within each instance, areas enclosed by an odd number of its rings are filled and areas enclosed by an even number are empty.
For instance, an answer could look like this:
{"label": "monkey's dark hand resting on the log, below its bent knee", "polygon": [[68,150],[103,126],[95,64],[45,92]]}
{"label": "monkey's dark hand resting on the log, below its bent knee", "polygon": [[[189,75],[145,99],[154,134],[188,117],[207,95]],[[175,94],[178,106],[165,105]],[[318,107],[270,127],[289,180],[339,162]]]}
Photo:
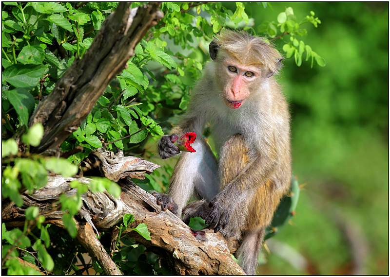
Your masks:
{"label": "monkey's dark hand resting on the log, below its bent knee", "polygon": [[218,196],[220,196],[220,194],[217,194],[211,200],[209,208],[212,210],[209,216],[204,219],[206,224],[209,225],[209,228],[214,229],[215,233],[225,229],[229,223],[230,215],[233,212],[233,207],[231,207],[232,205],[226,203],[227,201],[222,201],[223,197]]}

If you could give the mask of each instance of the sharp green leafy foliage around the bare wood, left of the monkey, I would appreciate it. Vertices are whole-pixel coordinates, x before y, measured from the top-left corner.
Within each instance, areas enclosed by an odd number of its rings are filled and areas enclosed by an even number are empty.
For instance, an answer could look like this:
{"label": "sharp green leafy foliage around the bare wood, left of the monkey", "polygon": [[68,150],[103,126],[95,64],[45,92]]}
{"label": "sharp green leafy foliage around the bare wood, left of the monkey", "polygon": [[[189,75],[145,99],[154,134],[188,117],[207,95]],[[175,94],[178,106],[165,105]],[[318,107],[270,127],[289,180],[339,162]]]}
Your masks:
{"label": "sharp green leafy foliage around the bare wood, left of the monkey", "polygon": [[[77,146],[84,150],[67,160],[29,155],[30,145],[39,145],[43,135],[43,127],[34,125],[22,137],[26,150],[19,151],[18,144],[11,138],[15,131],[27,126],[39,101],[51,93],[75,58],[83,57],[102,22],[117,5],[117,2],[3,2],[2,197],[14,201],[18,207],[23,205],[20,191],[26,189],[31,193],[43,187],[47,183],[47,172],[73,176],[80,161],[98,147],[122,149],[125,155],[143,155],[148,139],[156,141],[164,135],[177,121],[177,116],[186,110],[194,82],[208,59],[207,44],[222,28],[244,29],[254,34],[257,30],[257,35],[285,42],[282,49],[287,58],[294,56],[296,65],[301,65],[306,51],[306,60],[312,58],[312,66],[314,61],[325,66],[323,58],[297,39],[297,36],[307,35],[306,29],[300,27],[302,24],[310,22],[317,27],[321,23],[313,12],[297,23],[292,8],[288,7],[278,15],[277,23],[263,22],[256,29],[254,19],[246,12],[247,5],[241,2],[236,2],[232,9],[223,3],[163,2],[161,10],[165,16],[137,45],[127,69],[105,89],[78,130],[61,144],[64,152]],[[133,2],[132,8],[140,5],[143,3]],[[268,2],[261,5],[271,7]],[[290,36],[290,41],[285,40],[286,35]],[[173,169],[165,165],[163,170],[163,174],[156,172],[138,185],[144,189],[166,190]],[[77,188],[75,195],[63,194],[59,202],[54,203],[65,211],[62,220],[67,232],[54,225],[43,226],[44,217],[38,214],[36,207],[30,207],[26,210],[23,231],[6,230],[2,225],[3,260],[21,257],[56,275],[70,271],[82,273],[89,267],[102,272],[95,260],[88,265],[85,263],[81,254],[86,251],[74,239],[73,217],[81,207],[81,194],[87,190],[108,190],[118,197],[120,188],[105,178],[94,178],[88,186],[73,181],[71,187]],[[120,234],[132,220],[131,215],[124,216],[118,226]],[[204,226],[196,219],[194,224],[194,228]],[[31,229],[34,225],[36,228]],[[150,240],[146,225],[140,224],[132,230]],[[109,235],[102,232],[100,238],[106,248],[104,238]],[[124,274],[172,274],[164,260],[158,260],[153,253],[143,254],[145,247],[128,236],[119,235],[117,250],[113,260]],[[77,260],[83,269],[76,265]],[[28,267],[20,269],[16,259],[6,260],[5,268],[8,274],[36,273]]]}

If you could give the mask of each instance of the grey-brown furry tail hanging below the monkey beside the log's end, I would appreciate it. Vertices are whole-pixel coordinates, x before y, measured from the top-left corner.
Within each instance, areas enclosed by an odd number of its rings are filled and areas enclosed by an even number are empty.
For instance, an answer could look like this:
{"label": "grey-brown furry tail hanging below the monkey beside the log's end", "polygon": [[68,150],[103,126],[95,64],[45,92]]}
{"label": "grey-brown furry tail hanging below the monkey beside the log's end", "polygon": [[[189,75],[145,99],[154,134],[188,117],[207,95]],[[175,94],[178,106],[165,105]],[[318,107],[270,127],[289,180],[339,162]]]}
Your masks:
{"label": "grey-brown furry tail hanging below the monkey beside the log's end", "polygon": [[247,275],[256,275],[257,256],[263,245],[265,235],[264,227],[258,231],[247,231],[242,237],[242,242],[237,250],[238,260],[242,270]]}

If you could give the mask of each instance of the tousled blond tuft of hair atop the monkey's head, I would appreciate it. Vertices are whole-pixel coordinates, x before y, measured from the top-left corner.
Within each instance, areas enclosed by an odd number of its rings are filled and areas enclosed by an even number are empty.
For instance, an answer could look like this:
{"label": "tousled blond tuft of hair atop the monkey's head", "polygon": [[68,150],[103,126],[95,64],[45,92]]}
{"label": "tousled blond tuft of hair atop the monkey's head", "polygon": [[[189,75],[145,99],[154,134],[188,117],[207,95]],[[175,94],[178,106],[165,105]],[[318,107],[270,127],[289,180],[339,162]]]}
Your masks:
{"label": "tousled blond tuft of hair atop the monkey's head", "polygon": [[272,73],[271,76],[278,73],[283,60],[282,55],[275,50],[271,41],[264,37],[250,35],[245,31],[236,32],[223,29],[212,43],[214,57],[218,57],[215,51],[222,55],[223,52],[226,52],[234,56],[240,63],[268,67]]}

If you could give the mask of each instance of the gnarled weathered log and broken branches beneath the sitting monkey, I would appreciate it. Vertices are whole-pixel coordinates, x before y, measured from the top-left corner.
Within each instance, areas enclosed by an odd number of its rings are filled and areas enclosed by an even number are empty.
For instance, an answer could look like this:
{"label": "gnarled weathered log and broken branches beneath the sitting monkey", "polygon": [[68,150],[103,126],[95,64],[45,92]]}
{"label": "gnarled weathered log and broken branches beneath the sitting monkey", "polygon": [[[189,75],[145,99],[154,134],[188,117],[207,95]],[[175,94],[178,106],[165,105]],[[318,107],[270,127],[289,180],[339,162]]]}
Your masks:
{"label": "gnarled weathered log and broken branches beneath the sitting monkey", "polygon": [[[83,206],[76,217],[78,240],[87,249],[90,255],[97,260],[107,275],[117,275],[115,263],[104,250],[95,232],[110,230],[113,240],[116,241],[116,225],[123,220],[123,215],[133,214],[135,221],[129,228],[135,228],[141,223],[148,225],[151,240],[148,241],[136,231],[127,230],[124,234],[144,244],[151,251],[167,259],[172,269],[178,275],[243,275],[242,269],[231,258],[230,253],[236,250],[234,242],[227,242],[220,233],[212,230],[194,231],[185,225],[169,210],[161,211],[156,204],[156,198],[139,188],[129,176],[137,172],[137,177],[144,178],[145,168],[153,171],[158,165],[151,162],[123,157],[119,152],[114,156],[112,152],[93,152],[92,157],[97,158],[95,164],[105,167],[103,172],[123,170],[124,175],[118,181],[122,188],[119,198],[115,199],[107,192],[92,193],[87,191],[82,195]],[[104,161],[104,162],[103,162]],[[115,167],[110,165],[116,164]],[[133,171],[133,172],[132,172]],[[116,174],[108,174],[117,176]],[[46,218],[47,224],[54,224],[64,228],[62,223],[63,211],[60,206],[54,207],[52,203],[59,200],[61,193],[74,195],[76,189],[69,187],[69,183],[76,178],[63,178],[60,175],[48,176],[48,184],[32,193],[22,194],[23,206],[16,207],[13,203],[3,203],[2,222],[6,226],[20,227],[24,225],[24,211],[30,206],[37,206],[39,213]],[[88,183],[86,177],[77,178],[81,183]],[[86,222],[85,222],[86,221]],[[114,242],[115,243],[115,242]]]}

